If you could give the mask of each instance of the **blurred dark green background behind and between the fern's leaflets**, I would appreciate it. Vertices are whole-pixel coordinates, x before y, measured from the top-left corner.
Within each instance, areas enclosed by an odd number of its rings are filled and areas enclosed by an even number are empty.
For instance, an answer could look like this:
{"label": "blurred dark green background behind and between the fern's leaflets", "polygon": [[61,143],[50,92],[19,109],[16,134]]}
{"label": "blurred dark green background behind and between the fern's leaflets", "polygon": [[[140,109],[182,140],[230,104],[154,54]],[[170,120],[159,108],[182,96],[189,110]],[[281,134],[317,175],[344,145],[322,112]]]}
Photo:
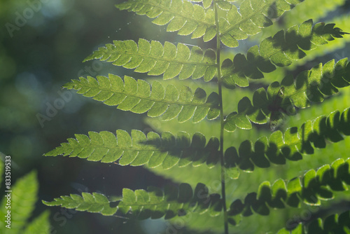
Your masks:
{"label": "blurred dark green background behind and between the fern's leaflets", "polygon": [[[82,95],[76,95],[75,92],[61,89],[64,83],[79,76],[106,76],[113,73],[118,76],[129,75],[134,78],[145,78],[144,74],[135,74],[132,70],[113,67],[104,62],[81,62],[93,50],[104,46],[106,43],[111,43],[113,40],[132,39],[138,41],[139,38],[144,38],[149,41],[157,40],[161,43],[165,41],[182,42],[195,44],[202,48],[214,48],[215,41],[204,43],[202,39],[190,40],[189,36],[166,33],[166,27],[153,25],[148,18],[127,13],[127,11],[118,11],[114,4],[121,1],[0,1],[0,151],[12,157],[13,181],[33,169],[38,172],[39,201],[33,216],[49,209],[51,213],[51,233],[55,233],[55,231],[56,233],[107,234],[165,233],[169,225],[163,221],[127,221],[116,217],[104,217],[100,214],[67,212],[59,207],[45,207],[40,200],[52,200],[52,198],[57,198],[60,195],[81,192],[121,195],[123,188],[162,187],[165,182],[170,182],[167,179],[169,177],[174,178],[174,182],[183,181],[189,184],[195,184],[200,179],[207,183],[209,181],[209,179],[202,176],[206,174],[206,171],[202,172],[203,168],[201,167],[193,169],[192,174],[196,174],[196,176],[185,178],[181,177],[181,172],[176,167],[174,167],[174,171],[169,170],[167,172],[154,170],[155,174],[162,175],[162,177],[159,177],[142,167],[120,167],[118,165],[92,163],[79,158],[44,158],[42,156],[43,153],[54,149],[61,142],[66,142],[66,139],[73,137],[74,134],[87,134],[88,131],[100,132],[107,130],[115,132],[117,129],[123,129],[130,132],[132,129],[137,129],[148,132],[153,129],[156,131],[169,130],[176,133],[178,130],[188,132],[203,130],[207,135],[218,135],[216,123],[208,125],[202,121],[198,125],[193,125],[194,128],[192,128],[189,123],[182,125],[177,124],[176,121],[162,123],[158,118],[146,118],[145,121],[144,115],[120,111],[112,106],[94,102]],[[305,4],[312,5],[312,3],[317,2],[306,0]],[[334,22],[333,18],[339,15],[342,15],[338,19],[341,25],[337,25],[337,27],[341,27],[345,32],[350,32],[349,20],[346,21],[346,18],[349,18],[349,6],[349,1],[340,0],[329,9],[321,8],[321,10],[310,11],[315,13],[316,16],[307,15],[302,11],[300,11],[300,15],[286,14],[286,17],[281,18],[276,27],[266,29],[263,34],[260,34],[260,37],[256,36],[253,39],[261,40],[261,36],[276,32],[277,29],[283,28],[283,25],[290,26],[290,20],[296,20],[295,23],[298,24],[308,18],[315,18],[314,22],[321,20]],[[326,10],[325,13],[323,13],[324,10]],[[288,23],[284,24],[283,20]],[[302,67],[293,68],[295,71],[302,71],[311,69],[318,62],[326,62],[331,58],[335,58],[337,61],[342,57],[348,57],[349,38],[348,36],[347,39],[336,40],[342,41],[341,44],[337,44],[329,50],[323,48],[318,54],[315,53],[311,61],[307,62],[305,60]],[[223,58],[232,58],[235,53],[246,51],[248,47],[255,43],[256,41],[252,40],[242,41],[239,50],[225,50]],[[328,51],[332,51],[332,53],[328,53]],[[266,85],[267,82],[276,80],[281,81],[283,74],[286,74],[286,72],[288,72],[286,69],[277,69],[276,72],[268,75],[264,81],[258,81],[265,83],[253,84],[251,90],[258,87],[257,85]],[[188,80],[182,84],[191,86],[193,81]],[[205,89],[214,91],[216,87],[207,84]],[[236,95],[238,96],[235,96],[235,99],[232,99],[230,93],[227,92],[224,96],[224,102],[227,104],[228,110],[225,112],[235,111],[237,102],[241,97],[252,95],[252,92],[246,90],[236,89]],[[349,94],[349,89],[344,89],[344,92]],[[349,107],[349,95],[338,95],[336,99],[332,99],[332,103],[328,106],[339,110]],[[332,111],[330,109],[325,110],[325,108],[314,106],[308,112],[301,111],[296,118],[291,118],[288,121],[290,124],[298,126],[309,119],[310,116]],[[190,128],[192,129],[190,130]],[[258,137],[269,133],[267,128],[254,128],[250,131],[237,130],[235,134],[227,133],[226,139],[228,141],[225,144],[227,146],[238,146],[244,139],[254,141]],[[344,141],[341,144],[346,146],[349,141]],[[341,152],[341,146],[335,147],[339,149],[325,149],[321,154],[334,153],[334,150]],[[290,165],[284,167],[285,170],[279,170],[279,176],[284,174],[286,179],[290,179],[304,172],[307,168],[329,163],[333,158],[339,158],[339,153],[326,158],[326,160],[320,160],[319,158],[318,160],[305,160],[302,165],[290,163]],[[314,161],[316,163],[311,163]],[[288,174],[288,167],[293,166],[297,167],[297,170],[293,170],[293,173],[296,174]],[[246,181],[251,181],[251,183],[245,183],[244,185],[243,181],[241,191],[245,193],[255,191],[256,183],[253,181],[256,180],[257,183],[260,183],[262,179],[276,176],[272,172],[266,174],[264,170],[260,171],[254,172],[254,177],[242,174],[240,179],[244,180],[246,178]],[[265,177],[261,177],[264,173]],[[213,174],[210,174],[210,176],[213,177]],[[232,199],[237,187],[239,187],[237,184],[229,186],[230,195],[228,195],[228,198]],[[239,195],[244,194],[238,193]],[[234,197],[237,197],[237,193]],[[278,212],[275,212],[275,214],[276,216],[279,215]],[[284,214],[286,217],[288,215],[290,216],[290,214]],[[251,220],[255,218],[256,216]],[[150,225],[150,222],[152,222],[152,225]],[[265,226],[269,225],[262,221],[262,226],[264,223]],[[277,227],[283,226],[283,222],[277,224]],[[219,225],[221,226],[221,223]],[[234,228],[232,228],[233,230]],[[178,233],[188,232],[186,228],[182,228]],[[191,231],[191,233],[195,232]]]}

